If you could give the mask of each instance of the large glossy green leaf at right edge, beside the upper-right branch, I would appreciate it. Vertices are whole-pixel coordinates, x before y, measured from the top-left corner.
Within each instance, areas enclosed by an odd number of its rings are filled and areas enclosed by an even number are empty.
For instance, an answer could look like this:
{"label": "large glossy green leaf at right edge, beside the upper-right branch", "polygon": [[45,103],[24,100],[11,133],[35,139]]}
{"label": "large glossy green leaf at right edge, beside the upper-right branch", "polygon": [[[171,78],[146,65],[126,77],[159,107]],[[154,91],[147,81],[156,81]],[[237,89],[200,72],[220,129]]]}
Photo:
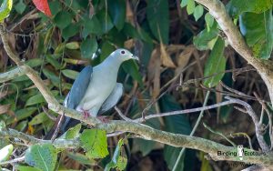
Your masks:
{"label": "large glossy green leaf at right edge, beside the upper-right branch", "polygon": [[258,58],[268,59],[273,48],[272,9],[262,13],[244,13],[239,18],[240,31]]}

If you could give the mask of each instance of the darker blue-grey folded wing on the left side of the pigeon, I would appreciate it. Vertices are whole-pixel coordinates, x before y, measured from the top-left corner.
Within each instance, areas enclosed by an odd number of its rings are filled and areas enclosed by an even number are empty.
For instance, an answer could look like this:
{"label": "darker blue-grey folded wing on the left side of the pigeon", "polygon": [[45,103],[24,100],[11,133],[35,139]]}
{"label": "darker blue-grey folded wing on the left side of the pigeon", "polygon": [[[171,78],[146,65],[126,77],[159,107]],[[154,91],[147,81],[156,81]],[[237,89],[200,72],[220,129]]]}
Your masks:
{"label": "darker blue-grey folded wing on the left side of the pigeon", "polygon": [[86,95],[86,89],[90,83],[92,73],[93,67],[88,65],[77,75],[69,92],[69,96],[67,96],[66,106],[68,108],[75,109]]}

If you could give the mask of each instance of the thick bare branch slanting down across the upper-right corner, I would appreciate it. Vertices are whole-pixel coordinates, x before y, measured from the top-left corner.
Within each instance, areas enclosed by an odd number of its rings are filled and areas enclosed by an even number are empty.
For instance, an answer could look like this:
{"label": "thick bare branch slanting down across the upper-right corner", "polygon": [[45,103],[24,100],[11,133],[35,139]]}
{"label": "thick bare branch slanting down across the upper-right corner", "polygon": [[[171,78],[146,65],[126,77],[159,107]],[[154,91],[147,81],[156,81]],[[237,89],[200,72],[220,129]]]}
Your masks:
{"label": "thick bare branch slanting down across the upper-right corner", "polygon": [[268,86],[268,92],[271,103],[273,103],[273,64],[270,61],[264,61],[256,58],[251,49],[246,44],[243,36],[238,31],[238,27],[234,25],[231,18],[227,14],[225,5],[219,0],[195,0],[197,3],[204,5],[209,10],[209,13],[217,20],[218,25],[227,35],[229,44],[244,57],[249,64],[253,65],[258,74]]}

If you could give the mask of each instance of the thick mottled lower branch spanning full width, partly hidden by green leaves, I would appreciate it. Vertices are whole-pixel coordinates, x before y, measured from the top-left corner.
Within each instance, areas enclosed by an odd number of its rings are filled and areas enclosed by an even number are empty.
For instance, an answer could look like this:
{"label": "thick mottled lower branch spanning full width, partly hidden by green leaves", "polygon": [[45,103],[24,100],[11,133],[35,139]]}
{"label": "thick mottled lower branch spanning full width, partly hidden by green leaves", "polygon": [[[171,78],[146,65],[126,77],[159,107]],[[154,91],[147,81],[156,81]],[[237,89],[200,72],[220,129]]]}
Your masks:
{"label": "thick mottled lower branch spanning full width, partly hidden by green leaves", "polygon": [[[187,147],[191,149],[201,150],[203,152],[208,153],[216,160],[238,161],[234,156],[217,156],[218,151],[230,152],[232,150],[237,150],[237,147],[224,146],[201,137],[168,133],[165,131],[154,129],[149,126],[127,121],[111,121],[108,124],[101,124],[96,127],[104,129],[108,133],[123,130],[125,132],[139,135],[144,139],[157,141],[163,144],[167,144],[169,146]],[[56,146],[57,148],[76,149],[80,147],[80,142],[78,139],[74,140],[56,139],[54,142],[52,142],[51,140],[37,139],[33,136],[25,135],[24,133],[18,132],[13,129],[2,130],[0,132],[0,137],[18,138],[25,141],[25,143],[27,143],[28,145],[53,143],[53,145]],[[258,153],[258,151],[254,152]],[[273,166],[273,154],[268,153],[261,156],[244,156],[244,162],[260,164],[263,166]]]}

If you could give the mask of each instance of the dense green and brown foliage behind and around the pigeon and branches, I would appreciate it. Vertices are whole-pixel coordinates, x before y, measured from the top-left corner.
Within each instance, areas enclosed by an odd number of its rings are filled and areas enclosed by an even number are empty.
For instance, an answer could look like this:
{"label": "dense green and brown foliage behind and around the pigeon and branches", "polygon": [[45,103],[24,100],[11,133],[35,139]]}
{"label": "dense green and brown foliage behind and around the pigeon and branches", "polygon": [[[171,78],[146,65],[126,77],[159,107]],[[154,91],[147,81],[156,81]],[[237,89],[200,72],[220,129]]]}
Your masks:
{"label": "dense green and brown foliage behind and around the pigeon and branches", "polygon": [[[235,25],[238,21],[239,29],[255,56],[269,59],[273,48],[272,0],[230,0],[226,7]],[[186,12],[187,17],[184,15]],[[222,31],[212,15],[194,0],[181,0],[178,5],[174,0],[5,0],[0,8],[0,21],[4,19],[10,34],[10,45],[25,60],[25,64],[33,67],[42,77],[60,103],[63,103],[76,75],[85,65],[98,65],[117,47],[126,47],[139,55],[140,64],[126,62],[117,80],[125,86],[125,96],[119,106],[131,118],[140,117],[149,102],[154,102],[166,90],[167,95],[155,106],[148,108],[146,115],[200,106],[203,103],[203,92],[198,86],[190,85],[180,91],[173,88],[176,81],[173,77],[185,75],[185,79],[192,79],[207,76],[202,81],[203,85],[214,88],[219,86],[226,67],[234,67],[227,60],[233,57],[232,54],[225,53],[226,37],[221,35]],[[8,60],[3,48],[0,54],[1,72],[14,69],[15,65]],[[207,56],[206,61],[201,56]],[[195,68],[185,72],[189,62],[195,60]],[[187,81],[183,76],[180,76],[180,81]],[[231,76],[227,82],[234,83]],[[45,99],[27,76],[16,77],[1,85],[0,89],[0,119],[5,122],[5,126],[38,137],[43,137],[53,126],[54,121],[48,115],[56,114],[43,110]],[[210,98],[212,103],[221,100],[222,96],[218,94]],[[231,113],[230,110],[226,112]],[[111,114],[112,111],[109,112]],[[228,117],[232,120],[231,115]],[[186,115],[167,116],[164,119],[148,120],[145,124],[189,135],[195,119],[195,116]],[[226,123],[226,119],[217,120],[217,124]],[[213,122],[216,119],[207,120],[218,126]],[[5,126],[0,128],[5,129]],[[207,136],[207,133],[202,132],[202,136]],[[123,170],[132,165],[129,160],[133,157],[127,159],[127,156],[134,156],[140,151],[142,156],[152,158],[158,148],[152,140],[134,138],[127,141],[127,138],[117,137],[107,138],[105,131],[77,125],[58,138],[80,139],[85,153],[82,150],[76,153],[62,152],[64,158],[67,156],[79,164],[76,169],[97,165],[106,170]],[[116,146],[115,150],[114,146],[108,146],[109,142]],[[1,161],[11,158],[14,149],[25,151],[25,148],[10,145],[7,140],[1,140],[0,147],[1,154],[5,151]],[[159,149],[166,164],[161,162],[158,166],[161,169],[172,169],[181,149],[173,146],[159,146]],[[54,170],[57,166],[70,169],[67,165],[69,162],[57,156],[63,150],[51,144],[29,146],[25,152],[25,164],[28,166],[20,165],[16,169]],[[201,163],[204,170],[211,169],[203,153],[199,159],[197,155],[188,153],[188,150],[186,155],[179,161],[180,170],[193,170],[200,166],[187,162],[188,158],[192,158],[192,162]],[[138,165],[138,161],[136,163]]]}

